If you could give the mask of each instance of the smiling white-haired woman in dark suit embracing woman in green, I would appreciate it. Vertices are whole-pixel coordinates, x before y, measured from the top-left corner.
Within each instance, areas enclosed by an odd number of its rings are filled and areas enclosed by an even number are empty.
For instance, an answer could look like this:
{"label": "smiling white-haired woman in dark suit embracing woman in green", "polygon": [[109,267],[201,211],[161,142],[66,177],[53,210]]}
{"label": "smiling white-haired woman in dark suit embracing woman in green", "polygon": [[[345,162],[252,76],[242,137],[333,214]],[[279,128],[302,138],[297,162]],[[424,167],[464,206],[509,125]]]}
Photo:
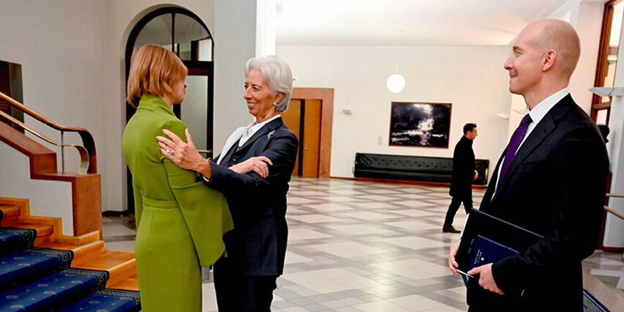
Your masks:
{"label": "smiling white-haired woman in dark suit embracing woman in green", "polygon": [[255,121],[239,127],[220,155],[207,160],[167,130],[157,137],[161,152],[178,166],[203,175],[225,195],[234,230],[223,236],[227,256],[215,263],[219,311],[270,311],[276,280],[283,273],[288,227],[286,192],[298,140],[281,119],[288,109],[293,76],[276,56],[245,64],[243,98]]}

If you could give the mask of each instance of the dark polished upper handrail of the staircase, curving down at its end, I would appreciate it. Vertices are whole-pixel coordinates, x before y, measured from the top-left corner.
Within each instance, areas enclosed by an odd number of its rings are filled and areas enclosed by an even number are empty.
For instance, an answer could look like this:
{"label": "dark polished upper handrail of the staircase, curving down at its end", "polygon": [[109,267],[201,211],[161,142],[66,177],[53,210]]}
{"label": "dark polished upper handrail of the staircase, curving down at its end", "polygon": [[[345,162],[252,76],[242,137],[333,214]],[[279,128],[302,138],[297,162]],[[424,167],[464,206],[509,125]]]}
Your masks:
{"label": "dark polished upper handrail of the staircase, curving down at its end", "polygon": [[93,136],[90,134],[89,130],[81,128],[81,127],[67,127],[66,125],[57,124],[52,120],[47,119],[43,115],[35,112],[34,110],[26,107],[26,105],[17,102],[17,100],[12,99],[8,95],[0,92],[0,99],[6,100],[9,104],[13,105],[16,109],[21,110],[22,112],[28,114],[34,119],[39,120],[40,122],[48,125],[52,129],[56,129],[61,131],[61,136],[63,132],[77,132],[80,135],[80,139],[82,139],[82,145],[87,150],[89,154],[89,168],[87,169],[88,173],[97,173],[97,157],[95,155],[95,142],[93,140]]}

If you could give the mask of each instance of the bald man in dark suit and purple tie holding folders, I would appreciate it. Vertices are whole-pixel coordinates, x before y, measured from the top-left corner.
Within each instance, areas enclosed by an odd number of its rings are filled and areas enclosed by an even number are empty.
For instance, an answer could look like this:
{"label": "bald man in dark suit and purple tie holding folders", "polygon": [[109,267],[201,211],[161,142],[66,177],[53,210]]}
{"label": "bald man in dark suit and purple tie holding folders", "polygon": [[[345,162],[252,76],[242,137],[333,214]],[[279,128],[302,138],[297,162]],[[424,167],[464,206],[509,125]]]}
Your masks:
{"label": "bald man in dark suit and purple tie holding folders", "polygon": [[[512,135],[480,210],[544,238],[469,274],[469,311],[582,311],[581,261],[593,253],[608,158],[600,132],[567,85],[580,54],[570,24],[527,26],[505,69],[530,112]],[[449,266],[456,273],[457,245]]]}

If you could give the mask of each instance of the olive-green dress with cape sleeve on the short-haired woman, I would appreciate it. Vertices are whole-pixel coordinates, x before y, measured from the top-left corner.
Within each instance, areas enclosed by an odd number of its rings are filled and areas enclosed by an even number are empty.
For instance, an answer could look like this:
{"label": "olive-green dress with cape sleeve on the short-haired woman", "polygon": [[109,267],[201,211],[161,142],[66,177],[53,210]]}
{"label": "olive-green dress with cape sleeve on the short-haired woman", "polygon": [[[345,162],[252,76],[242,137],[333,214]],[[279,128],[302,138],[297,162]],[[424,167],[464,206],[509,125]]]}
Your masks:
{"label": "olive-green dress with cape sleeve on the short-haired woman", "polygon": [[202,273],[223,255],[232,217],[220,192],[197,173],[160,153],[168,129],[185,140],[185,124],[160,97],[144,95],[124,130],[122,147],[132,172],[135,253],[142,310],[202,311]]}

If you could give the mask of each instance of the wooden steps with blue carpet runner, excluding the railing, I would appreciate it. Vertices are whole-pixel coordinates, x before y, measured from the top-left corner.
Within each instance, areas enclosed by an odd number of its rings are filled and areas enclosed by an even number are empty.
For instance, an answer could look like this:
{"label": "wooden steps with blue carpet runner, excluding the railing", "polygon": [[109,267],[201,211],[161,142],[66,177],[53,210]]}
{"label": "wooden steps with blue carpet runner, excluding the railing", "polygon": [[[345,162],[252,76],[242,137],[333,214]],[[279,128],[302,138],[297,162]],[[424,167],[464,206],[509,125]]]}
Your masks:
{"label": "wooden steps with blue carpet runner, excluding the railing", "polygon": [[0,198],[0,311],[140,311],[134,253],[100,232],[64,236],[61,219]]}

